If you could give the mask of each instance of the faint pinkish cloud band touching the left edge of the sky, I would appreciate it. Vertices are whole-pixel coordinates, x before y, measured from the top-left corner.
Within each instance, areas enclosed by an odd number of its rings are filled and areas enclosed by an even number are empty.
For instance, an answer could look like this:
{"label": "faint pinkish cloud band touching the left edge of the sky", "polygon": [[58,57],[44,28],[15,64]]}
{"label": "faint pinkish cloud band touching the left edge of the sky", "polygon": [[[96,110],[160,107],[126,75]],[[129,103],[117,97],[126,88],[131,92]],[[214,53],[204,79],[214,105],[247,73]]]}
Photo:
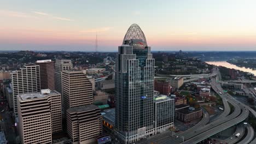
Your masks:
{"label": "faint pinkish cloud band touching the left edge of the sky", "polygon": [[34,19],[38,18],[38,17],[32,16],[30,14],[21,13],[19,11],[11,11],[11,10],[0,10],[0,15],[9,16],[9,17],[34,18]]}

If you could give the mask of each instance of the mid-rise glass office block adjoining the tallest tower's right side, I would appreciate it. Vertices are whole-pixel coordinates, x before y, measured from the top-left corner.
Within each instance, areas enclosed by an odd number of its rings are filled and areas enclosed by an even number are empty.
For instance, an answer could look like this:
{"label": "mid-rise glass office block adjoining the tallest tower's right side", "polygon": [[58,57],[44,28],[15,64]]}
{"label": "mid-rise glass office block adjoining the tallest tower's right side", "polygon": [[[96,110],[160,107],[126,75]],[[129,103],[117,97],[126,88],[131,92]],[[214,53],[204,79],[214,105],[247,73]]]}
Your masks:
{"label": "mid-rise glass office block adjoining the tallest tower's right side", "polygon": [[154,95],[155,134],[173,128],[174,107],[174,99],[167,97],[167,95]]}

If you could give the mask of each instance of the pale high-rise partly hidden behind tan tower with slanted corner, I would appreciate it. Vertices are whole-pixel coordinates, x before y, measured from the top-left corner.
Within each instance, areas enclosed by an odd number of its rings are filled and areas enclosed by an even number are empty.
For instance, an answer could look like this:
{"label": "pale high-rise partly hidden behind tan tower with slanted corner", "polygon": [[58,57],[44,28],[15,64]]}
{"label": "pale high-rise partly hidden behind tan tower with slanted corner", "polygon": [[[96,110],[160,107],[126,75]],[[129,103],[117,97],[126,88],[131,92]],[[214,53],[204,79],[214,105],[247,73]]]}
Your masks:
{"label": "pale high-rise partly hidden behind tan tower with slanted corner", "polygon": [[54,67],[55,90],[60,92],[61,94],[62,94],[61,71],[66,69],[73,69],[73,64],[71,60],[56,59],[55,67]]}

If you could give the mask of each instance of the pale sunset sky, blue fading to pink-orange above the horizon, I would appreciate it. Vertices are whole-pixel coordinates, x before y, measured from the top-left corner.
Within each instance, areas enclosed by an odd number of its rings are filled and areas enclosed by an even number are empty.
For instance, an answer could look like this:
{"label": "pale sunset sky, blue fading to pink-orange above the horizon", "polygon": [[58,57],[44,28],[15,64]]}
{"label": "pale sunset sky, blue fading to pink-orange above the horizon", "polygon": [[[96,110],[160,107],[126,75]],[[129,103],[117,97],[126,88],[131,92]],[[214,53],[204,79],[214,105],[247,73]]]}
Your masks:
{"label": "pale sunset sky, blue fading to pink-orange above the horizon", "polygon": [[256,51],[255,0],[0,0],[0,50],[117,51],[137,23],[153,51]]}

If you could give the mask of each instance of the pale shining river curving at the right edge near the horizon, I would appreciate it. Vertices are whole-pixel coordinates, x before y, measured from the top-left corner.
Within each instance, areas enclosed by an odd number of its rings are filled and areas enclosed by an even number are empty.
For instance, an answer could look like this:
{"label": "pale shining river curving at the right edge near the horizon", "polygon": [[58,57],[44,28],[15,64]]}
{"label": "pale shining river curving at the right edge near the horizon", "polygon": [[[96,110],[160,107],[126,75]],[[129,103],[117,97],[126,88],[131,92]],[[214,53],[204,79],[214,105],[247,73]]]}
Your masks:
{"label": "pale shining river curving at the right edge near the horizon", "polygon": [[237,67],[236,65],[228,63],[226,61],[213,61],[213,62],[206,62],[206,63],[217,65],[217,66],[222,66],[222,67],[226,67],[226,68],[230,68],[230,69],[237,69],[237,70],[245,71],[245,72],[252,73],[252,74],[256,75],[256,70],[253,70],[251,68],[245,68],[245,67]]}

